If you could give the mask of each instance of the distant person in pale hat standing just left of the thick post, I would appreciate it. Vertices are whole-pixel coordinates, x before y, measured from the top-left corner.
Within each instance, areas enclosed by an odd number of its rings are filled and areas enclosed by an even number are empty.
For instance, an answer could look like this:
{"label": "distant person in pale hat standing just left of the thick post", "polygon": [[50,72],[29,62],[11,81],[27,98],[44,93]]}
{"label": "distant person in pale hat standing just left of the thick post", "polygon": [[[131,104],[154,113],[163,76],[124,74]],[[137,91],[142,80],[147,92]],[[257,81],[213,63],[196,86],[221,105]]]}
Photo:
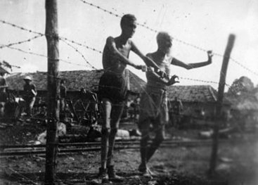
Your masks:
{"label": "distant person in pale hat standing just left of the thick post", "polygon": [[37,89],[34,84],[32,84],[32,78],[27,76],[23,79],[25,84],[23,86],[24,90],[24,100],[25,100],[25,112],[27,113],[27,121],[30,121],[32,117],[32,108],[34,106],[36,96],[37,96]]}

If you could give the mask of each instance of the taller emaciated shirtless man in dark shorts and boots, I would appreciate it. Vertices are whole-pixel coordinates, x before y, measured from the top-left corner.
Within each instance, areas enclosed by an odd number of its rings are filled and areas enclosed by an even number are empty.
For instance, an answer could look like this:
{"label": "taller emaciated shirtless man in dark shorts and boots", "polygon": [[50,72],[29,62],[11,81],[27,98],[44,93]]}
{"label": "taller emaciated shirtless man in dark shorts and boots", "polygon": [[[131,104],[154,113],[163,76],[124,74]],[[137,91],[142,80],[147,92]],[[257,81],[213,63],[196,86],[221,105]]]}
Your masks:
{"label": "taller emaciated shirtless man in dark shorts and boots", "polygon": [[127,14],[121,19],[122,34],[118,37],[108,37],[103,51],[104,74],[99,82],[99,93],[103,103],[104,119],[101,137],[101,168],[98,181],[122,181],[123,177],[115,174],[112,163],[112,152],[115,144],[115,134],[123,112],[124,99],[127,93],[127,80],[124,71],[127,65],[140,70],[143,65],[136,65],[129,60],[129,52],[134,51],[147,65],[152,66],[160,76],[164,76],[159,67],[138,50],[131,37],[136,30],[136,18]]}

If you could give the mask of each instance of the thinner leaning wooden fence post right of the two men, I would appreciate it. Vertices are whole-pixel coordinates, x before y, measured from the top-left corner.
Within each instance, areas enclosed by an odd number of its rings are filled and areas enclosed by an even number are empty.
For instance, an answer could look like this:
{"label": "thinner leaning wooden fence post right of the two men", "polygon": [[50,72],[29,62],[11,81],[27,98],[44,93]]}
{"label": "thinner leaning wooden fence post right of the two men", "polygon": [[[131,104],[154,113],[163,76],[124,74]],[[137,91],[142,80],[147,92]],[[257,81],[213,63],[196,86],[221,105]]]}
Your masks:
{"label": "thinner leaning wooden fence post right of the two men", "polygon": [[223,63],[221,66],[221,72],[219,77],[219,89],[218,89],[218,98],[217,98],[217,106],[216,106],[216,115],[215,115],[215,123],[213,129],[213,141],[212,141],[212,154],[209,161],[209,175],[213,174],[217,165],[217,153],[219,146],[219,126],[221,125],[221,117],[222,117],[222,105],[223,105],[223,95],[224,88],[226,82],[226,71],[228,69],[228,61],[230,59],[231,51],[233,49],[233,44],[235,42],[236,36],[234,34],[230,34],[228,37],[228,44],[226,45],[226,50],[224,53]]}

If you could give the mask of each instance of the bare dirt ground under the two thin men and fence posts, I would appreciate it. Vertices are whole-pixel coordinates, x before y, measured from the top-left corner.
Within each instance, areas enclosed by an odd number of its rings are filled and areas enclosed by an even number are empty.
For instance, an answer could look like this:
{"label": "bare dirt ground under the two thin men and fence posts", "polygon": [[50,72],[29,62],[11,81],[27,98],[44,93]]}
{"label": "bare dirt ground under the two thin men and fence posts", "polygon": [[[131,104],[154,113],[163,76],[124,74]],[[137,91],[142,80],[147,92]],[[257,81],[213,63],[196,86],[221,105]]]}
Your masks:
{"label": "bare dirt ground under the two thin men and fence posts", "polygon": [[[21,124],[21,123],[19,123]],[[27,143],[35,139],[44,125],[18,125],[16,130],[1,130],[1,143]],[[17,126],[17,127],[18,127]],[[129,125],[124,127],[131,127]],[[27,129],[26,129],[27,128]],[[30,133],[30,134],[28,134]],[[196,131],[181,131],[174,136],[196,136]],[[4,137],[2,137],[4,136]],[[23,138],[23,139],[22,139]],[[140,162],[138,150],[115,151],[117,173],[127,177],[123,183],[112,184],[258,184],[258,142],[224,143],[219,146],[217,173],[207,177],[210,146],[160,148],[150,160],[153,179],[138,174]],[[57,184],[91,184],[96,177],[100,152],[58,155]],[[0,158],[0,184],[43,184],[45,158],[36,155]]]}

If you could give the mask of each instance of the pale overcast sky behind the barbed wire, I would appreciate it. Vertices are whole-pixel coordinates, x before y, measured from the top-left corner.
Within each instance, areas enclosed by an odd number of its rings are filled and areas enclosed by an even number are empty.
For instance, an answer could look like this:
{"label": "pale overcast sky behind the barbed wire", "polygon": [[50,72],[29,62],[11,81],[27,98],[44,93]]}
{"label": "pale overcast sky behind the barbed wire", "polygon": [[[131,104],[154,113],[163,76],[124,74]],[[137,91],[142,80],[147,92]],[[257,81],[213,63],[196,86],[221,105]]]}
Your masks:
{"label": "pale overcast sky behind the barbed wire", "polygon": [[[144,23],[155,30],[165,30],[176,39],[212,49],[216,53],[224,53],[228,35],[236,34],[236,42],[231,56],[247,68],[258,72],[258,1],[255,0],[96,0],[89,2],[101,6],[119,15],[133,13],[138,23]],[[44,33],[45,9],[44,0],[1,0],[0,19],[26,27],[30,30]],[[10,25],[0,23],[0,44],[19,42],[36,34],[19,30]],[[58,1],[58,27],[62,37],[84,43],[97,50],[103,51],[105,39],[120,34],[120,18],[101,11],[98,8],[84,4],[79,0]],[[155,32],[138,26],[133,40],[143,53],[157,49]],[[75,45],[76,46],[76,45]],[[46,55],[46,39],[41,37],[15,46],[25,51]],[[101,53],[76,46],[85,58],[96,68],[102,68]],[[60,58],[77,63],[72,65],[60,61],[60,70],[90,70],[89,65],[79,53],[60,42]],[[207,60],[207,54],[186,44],[173,42],[172,54],[186,63]],[[143,64],[143,61],[130,54],[131,60]],[[0,60],[6,60],[21,69],[14,72],[46,71],[47,60],[44,57],[33,56],[12,49],[0,49]],[[172,74],[179,77],[219,81],[222,58],[214,56],[212,65],[204,68],[185,70],[172,66]],[[129,68],[131,69],[131,68]],[[133,70],[136,72],[136,70]],[[143,72],[136,72],[145,79]],[[231,84],[240,76],[247,76],[254,84],[258,84],[257,75],[253,75],[230,60],[226,82]],[[181,85],[209,84],[181,79]],[[217,89],[217,84],[211,84]]]}

